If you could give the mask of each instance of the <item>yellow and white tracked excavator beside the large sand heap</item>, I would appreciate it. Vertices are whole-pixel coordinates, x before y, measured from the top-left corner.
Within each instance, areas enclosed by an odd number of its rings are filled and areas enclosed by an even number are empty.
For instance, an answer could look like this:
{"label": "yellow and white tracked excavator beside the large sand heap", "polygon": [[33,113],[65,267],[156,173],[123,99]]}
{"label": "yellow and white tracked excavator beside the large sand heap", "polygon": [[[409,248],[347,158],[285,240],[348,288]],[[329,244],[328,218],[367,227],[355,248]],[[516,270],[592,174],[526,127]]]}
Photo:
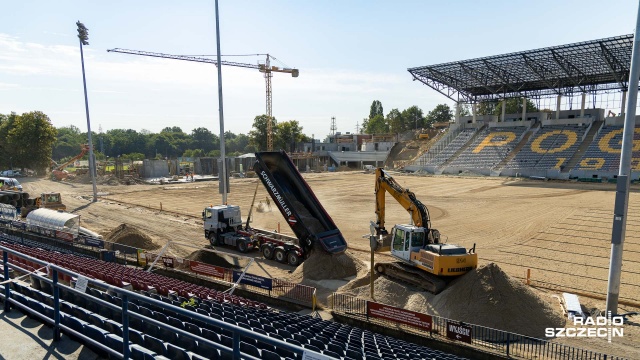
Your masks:
{"label": "yellow and white tracked excavator beside the large sand heap", "polygon": [[[473,248],[443,244],[440,232],[431,227],[429,210],[409,189],[404,189],[382,168],[376,169],[376,217],[372,231],[378,235],[376,252],[391,252],[398,261],[379,262],[377,273],[437,294],[447,280],[478,266]],[[398,224],[389,233],[385,228],[385,194],[389,193],[411,215],[412,224]]]}

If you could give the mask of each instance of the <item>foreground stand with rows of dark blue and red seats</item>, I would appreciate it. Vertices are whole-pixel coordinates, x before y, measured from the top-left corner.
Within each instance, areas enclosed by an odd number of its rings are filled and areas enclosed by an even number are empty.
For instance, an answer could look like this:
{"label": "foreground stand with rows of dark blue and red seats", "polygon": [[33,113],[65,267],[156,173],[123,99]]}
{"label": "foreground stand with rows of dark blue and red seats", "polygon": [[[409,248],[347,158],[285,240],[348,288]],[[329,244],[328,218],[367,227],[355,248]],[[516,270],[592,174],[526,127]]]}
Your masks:
{"label": "foreground stand with rows of dark blue and red seats", "polygon": [[[0,242],[0,245],[32,258],[68,267],[94,279],[101,279],[112,286],[131,286],[144,295],[139,299],[127,300],[119,297],[117,292],[110,291],[109,287],[107,291],[89,287],[87,293],[82,294],[64,286],[58,287],[61,324],[100,344],[98,350],[110,349],[116,353],[121,352],[126,335],[129,338],[129,349],[133,359],[233,358],[228,351],[221,350],[233,348],[233,332],[215,325],[214,322],[201,321],[198,319],[199,316],[187,316],[186,311],[178,311],[181,305],[187,302],[187,298],[194,299],[195,304],[184,306],[184,309],[194,314],[301,346],[331,358],[462,359],[357,327],[308,315],[276,311],[259,302],[124,265],[4,241]],[[8,259],[10,264],[27,271],[42,268],[41,264],[19,255],[9,254]],[[64,275],[59,274],[58,277],[64,279]],[[33,281],[33,286],[13,282],[11,299],[45,318],[52,319],[55,312],[53,287],[43,277],[32,277],[34,278],[40,279]],[[122,323],[124,301],[128,301],[127,313],[130,319],[126,334]],[[212,346],[204,340],[217,346]],[[301,354],[291,349],[276,347],[261,341],[259,337],[256,339],[254,336],[240,336],[239,341],[240,351],[256,358],[302,358]]]}

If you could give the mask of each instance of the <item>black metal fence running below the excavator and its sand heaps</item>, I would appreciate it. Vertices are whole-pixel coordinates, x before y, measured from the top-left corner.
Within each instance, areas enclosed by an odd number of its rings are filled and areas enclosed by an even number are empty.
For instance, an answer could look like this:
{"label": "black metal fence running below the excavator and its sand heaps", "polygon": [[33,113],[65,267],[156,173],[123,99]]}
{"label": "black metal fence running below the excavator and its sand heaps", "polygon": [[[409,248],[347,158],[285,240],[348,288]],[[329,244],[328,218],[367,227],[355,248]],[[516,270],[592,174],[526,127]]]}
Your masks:
{"label": "black metal fence running below the excavator and its sand heaps", "polygon": [[[593,360],[624,360],[622,357],[599,353],[592,350],[581,349],[574,346],[554,343],[548,340],[537,339],[530,336],[511,333],[508,331],[489,328],[481,325],[466,324],[452,319],[436,315],[426,315],[431,318],[428,330],[424,324],[411,325],[406,320],[406,316],[397,320],[389,317],[380,317],[373,314],[370,309],[370,302],[365,299],[348,294],[333,293],[332,309],[338,314],[353,317],[369,323],[377,323],[384,326],[393,326],[403,331],[430,338],[451,339],[447,336],[447,326],[450,324],[460,324],[465,328],[470,328],[470,338],[465,341],[474,347],[488,349],[492,352],[504,354],[507,357],[519,359],[536,360],[568,360],[568,359],[593,359]],[[374,303],[378,304],[378,303]],[[384,305],[388,308],[391,306]],[[397,312],[406,312],[404,309],[396,309]]]}

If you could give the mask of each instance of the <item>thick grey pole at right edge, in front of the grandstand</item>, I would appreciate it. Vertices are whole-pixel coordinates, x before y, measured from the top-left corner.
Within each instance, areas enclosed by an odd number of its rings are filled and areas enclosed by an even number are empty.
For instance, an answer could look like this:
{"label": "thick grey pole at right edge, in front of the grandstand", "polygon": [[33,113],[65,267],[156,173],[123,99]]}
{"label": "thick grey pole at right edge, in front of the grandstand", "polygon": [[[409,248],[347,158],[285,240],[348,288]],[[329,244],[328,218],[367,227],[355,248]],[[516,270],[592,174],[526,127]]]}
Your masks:
{"label": "thick grey pole at right edge, in front of the grandstand", "polygon": [[638,102],[638,78],[640,77],[640,7],[636,14],[636,31],[631,50],[631,68],[629,69],[629,94],[627,96],[624,129],[622,132],[622,150],[620,169],[616,186],[616,200],[613,207],[613,228],[611,232],[611,260],[609,263],[609,282],[607,286],[607,314],[618,313],[620,296],[620,275],[622,272],[622,247],[627,228],[629,211],[629,182],[631,177],[631,158],[633,152],[633,133],[636,121],[636,103]]}

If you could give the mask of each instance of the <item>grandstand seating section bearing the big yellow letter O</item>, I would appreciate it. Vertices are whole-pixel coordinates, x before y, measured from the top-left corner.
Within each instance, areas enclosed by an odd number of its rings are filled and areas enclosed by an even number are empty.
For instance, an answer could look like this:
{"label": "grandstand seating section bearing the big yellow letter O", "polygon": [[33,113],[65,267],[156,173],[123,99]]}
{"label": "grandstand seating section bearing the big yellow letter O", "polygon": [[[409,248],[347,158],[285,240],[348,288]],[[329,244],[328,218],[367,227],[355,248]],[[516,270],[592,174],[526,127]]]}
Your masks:
{"label": "grandstand seating section bearing the big yellow letter O", "polygon": [[506,165],[507,169],[561,169],[574,155],[588,130],[586,125],[544,126]]}

